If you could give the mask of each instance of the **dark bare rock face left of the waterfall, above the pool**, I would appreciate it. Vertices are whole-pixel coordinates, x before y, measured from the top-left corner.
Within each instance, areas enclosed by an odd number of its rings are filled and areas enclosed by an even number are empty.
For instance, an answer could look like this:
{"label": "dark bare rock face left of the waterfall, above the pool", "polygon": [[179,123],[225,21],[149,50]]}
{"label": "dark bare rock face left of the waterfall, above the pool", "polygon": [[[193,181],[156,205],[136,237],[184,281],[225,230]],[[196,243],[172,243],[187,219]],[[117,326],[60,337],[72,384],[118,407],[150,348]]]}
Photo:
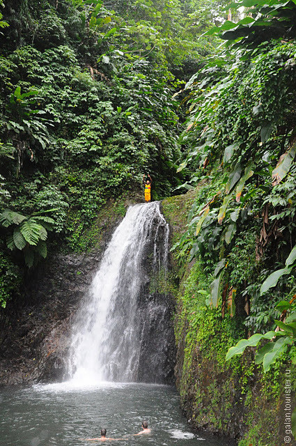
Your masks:
{"label": "dark bare rock face left of the waterfall, above the pool", "polygon": [[63,378],[72,317],[99,260],[98,254],[59,254],[26,279],[21,305],[8,305],[1,321],[0,383]]}

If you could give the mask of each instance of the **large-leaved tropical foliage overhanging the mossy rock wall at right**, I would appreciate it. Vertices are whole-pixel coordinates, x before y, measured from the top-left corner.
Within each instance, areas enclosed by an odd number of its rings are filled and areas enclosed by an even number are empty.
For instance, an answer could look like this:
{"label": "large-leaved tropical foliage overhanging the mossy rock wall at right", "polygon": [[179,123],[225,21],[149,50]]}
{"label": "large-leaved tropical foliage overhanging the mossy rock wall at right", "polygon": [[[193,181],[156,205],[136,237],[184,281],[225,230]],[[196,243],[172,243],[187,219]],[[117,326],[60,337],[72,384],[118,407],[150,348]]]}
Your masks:
{"label": "large-leaved tropical foliage overhanging the mossy rock wall at right", "polygon": [[209,305],[244,320],[247,339],[227,359],[265,340],[255,360],[269,371],[295,362],[296,4],[230,5],[242,7],[240,20],[207,31],[225,43],[182,92],[182,187],[208,186],[173,249],[212,275]]}

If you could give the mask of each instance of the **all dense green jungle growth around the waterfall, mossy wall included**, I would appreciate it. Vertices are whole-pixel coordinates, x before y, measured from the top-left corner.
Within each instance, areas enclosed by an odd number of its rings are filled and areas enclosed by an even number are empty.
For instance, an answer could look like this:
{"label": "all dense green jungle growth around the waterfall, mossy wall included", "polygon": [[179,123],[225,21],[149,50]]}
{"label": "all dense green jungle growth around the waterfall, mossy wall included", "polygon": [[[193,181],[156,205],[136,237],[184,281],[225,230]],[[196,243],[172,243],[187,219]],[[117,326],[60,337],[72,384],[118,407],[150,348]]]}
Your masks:
{"label": "all dense green jungle growth around the waterfall, mossy wall included", "polygon": [[0,48],[1,317],[150,174],[183,410],[295,444],[296,0],[0,0]]}

